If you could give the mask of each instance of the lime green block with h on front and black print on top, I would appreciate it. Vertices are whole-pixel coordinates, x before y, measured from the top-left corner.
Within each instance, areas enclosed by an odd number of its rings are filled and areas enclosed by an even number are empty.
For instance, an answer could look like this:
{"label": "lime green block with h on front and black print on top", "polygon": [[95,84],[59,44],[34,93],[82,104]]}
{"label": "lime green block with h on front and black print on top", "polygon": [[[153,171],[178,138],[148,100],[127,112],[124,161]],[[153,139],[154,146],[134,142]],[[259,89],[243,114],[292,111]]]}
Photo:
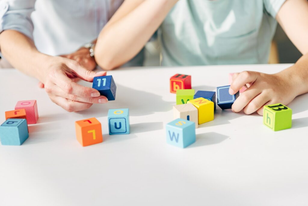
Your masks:
{"label": "lime green block with h on front and black print on top", "polygon": [[266,105],[263,107],[263,124],[273,131],[292,127],[292,109],[283,104]]}

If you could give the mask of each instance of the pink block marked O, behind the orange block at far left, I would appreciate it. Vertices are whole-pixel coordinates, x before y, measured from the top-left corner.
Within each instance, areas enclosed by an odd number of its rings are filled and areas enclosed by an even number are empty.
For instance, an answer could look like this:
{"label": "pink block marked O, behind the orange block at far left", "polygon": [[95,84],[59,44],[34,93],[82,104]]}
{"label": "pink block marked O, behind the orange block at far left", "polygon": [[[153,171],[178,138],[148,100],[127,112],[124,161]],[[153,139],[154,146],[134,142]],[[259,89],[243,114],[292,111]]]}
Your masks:
{"label": "pink block marked O, behind the orange block at far left", "polygon": [[26,110],[26,120],[28,124],[36,124],[39,118],[38,106],[36,100],[24,100],[18,101],[15,109],[25,109]]}

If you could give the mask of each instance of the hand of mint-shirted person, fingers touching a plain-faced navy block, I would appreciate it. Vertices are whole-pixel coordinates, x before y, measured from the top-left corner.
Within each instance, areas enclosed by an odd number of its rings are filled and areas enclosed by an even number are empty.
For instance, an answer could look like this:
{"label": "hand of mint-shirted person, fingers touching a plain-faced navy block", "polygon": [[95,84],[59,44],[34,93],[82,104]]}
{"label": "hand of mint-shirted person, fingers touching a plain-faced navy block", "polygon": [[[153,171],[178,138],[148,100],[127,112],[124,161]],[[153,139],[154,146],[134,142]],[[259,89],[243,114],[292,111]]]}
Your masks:
{"label": "hand of mint-shirted person, fingers touching a plain-faced navy block", "polygon": [[283,72],[276,74],[265,74],[260,72],[244,71],[233,75],[233,82],[229,93],[235,94],[246,86],[243,92],[232,105],[233,112],[245,114],[257,111],[263,115],[263,106],[275,103],[289,104],[296,96],[296,88],[290,77]]}

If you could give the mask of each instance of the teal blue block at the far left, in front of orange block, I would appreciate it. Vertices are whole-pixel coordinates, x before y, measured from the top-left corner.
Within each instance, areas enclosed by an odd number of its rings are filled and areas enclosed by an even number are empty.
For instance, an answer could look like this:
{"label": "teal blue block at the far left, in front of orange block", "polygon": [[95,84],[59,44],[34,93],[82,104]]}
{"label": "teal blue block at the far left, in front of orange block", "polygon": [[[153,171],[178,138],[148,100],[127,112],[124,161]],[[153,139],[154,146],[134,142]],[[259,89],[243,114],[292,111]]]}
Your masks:
{"label": "teal blue block at the far left, in front of orange block", "polygon": [[29,137],[26,119],[7,119],[0,126],[2,145],[22,145]]}

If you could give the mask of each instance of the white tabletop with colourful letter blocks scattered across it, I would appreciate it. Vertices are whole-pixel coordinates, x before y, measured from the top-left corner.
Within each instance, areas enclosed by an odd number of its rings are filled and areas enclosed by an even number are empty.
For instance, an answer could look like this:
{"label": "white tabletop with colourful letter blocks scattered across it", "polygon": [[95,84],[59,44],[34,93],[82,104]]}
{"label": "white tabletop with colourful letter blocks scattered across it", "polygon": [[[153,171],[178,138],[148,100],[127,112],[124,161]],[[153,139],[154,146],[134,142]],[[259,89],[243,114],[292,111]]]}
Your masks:
{"label": "white tabletop with colourful letter blocks scattered across it", "polygon": [[[221,111],[199,125],[197,141],[166,143],[175,94],[169,78],[192,75],[193,89],[215,91],[229,72],[274,73],[290,65],[126,68],[113,75],[116,100],[68,113],[37,80],[0,70],[0,114],[36,99],[39,122],[22,146],[0,145],[0,205],[307,205],[308,95],[297,97],[291,129],[274,132],[257,114]],[[91,83],[85,83],[91,87]],[[108,135],[108,109],[129,108],[131,134]],[[96,117],[103,143],[82,147],[75,121]],[[1,122],[1,123],[2,123]]]}

